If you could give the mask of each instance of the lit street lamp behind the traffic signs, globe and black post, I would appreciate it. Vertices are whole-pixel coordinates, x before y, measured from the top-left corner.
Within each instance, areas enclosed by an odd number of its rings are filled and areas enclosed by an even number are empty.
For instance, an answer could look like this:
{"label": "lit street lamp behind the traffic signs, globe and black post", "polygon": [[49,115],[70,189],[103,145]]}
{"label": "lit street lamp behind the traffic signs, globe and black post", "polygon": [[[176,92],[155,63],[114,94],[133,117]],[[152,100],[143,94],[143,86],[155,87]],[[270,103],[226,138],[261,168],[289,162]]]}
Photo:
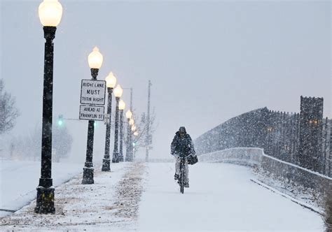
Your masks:
{"label": "lit street lamp behind the traffic signs, globe and black post", "polygon": [[[93,48],[92,52],[88,56],[88,63],[91,69],[92,80],[97,80],[99,68],[102,66],[103,57],[97,47]],[[95,135],[95,121],[89,120],[88,123],[88,140],[86,145],[86,159],[83,168],[83,180],[82,184],[93,184],[93,137]]]}

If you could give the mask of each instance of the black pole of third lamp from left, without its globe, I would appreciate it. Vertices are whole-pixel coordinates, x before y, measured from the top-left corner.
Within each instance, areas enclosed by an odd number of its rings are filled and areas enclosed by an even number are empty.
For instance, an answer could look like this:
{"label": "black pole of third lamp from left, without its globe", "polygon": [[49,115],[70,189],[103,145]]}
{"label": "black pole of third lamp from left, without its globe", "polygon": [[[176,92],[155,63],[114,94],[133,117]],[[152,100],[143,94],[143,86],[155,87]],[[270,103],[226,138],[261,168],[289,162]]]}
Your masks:
{"label": "black pole of third lamp from left, without its globe", "polygon": [[107,102],[107,114],[109,115],[109,123],[106,124],[106,138],[105,138],[105,154],[102,160],[102,171],[111,171],[111,159],[109,159],[109,144],[111,143],[111,113],[112,113],[112,92],[113,88],[107,87],[107,92],[109,93]]}

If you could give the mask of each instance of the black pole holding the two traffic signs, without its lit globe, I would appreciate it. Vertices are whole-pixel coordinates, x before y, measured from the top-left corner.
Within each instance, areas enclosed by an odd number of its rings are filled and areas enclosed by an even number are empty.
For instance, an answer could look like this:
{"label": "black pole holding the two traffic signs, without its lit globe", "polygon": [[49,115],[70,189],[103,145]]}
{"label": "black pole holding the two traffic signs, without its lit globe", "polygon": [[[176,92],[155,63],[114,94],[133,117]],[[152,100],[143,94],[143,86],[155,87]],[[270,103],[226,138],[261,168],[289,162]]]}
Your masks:
{"label": "black pole holding the two traffic signs, without its lit globe", "polygon": [[[91,68],[92,80],[97,80],[99,68]],[[83,180],[82,184],[93,184],[93,168],[92,157],[93,157],[93,137],[95,136],[95,121],[89,120],[88,124],[88,139],[86,143],[86,158],[85,165],[83,168]]]}

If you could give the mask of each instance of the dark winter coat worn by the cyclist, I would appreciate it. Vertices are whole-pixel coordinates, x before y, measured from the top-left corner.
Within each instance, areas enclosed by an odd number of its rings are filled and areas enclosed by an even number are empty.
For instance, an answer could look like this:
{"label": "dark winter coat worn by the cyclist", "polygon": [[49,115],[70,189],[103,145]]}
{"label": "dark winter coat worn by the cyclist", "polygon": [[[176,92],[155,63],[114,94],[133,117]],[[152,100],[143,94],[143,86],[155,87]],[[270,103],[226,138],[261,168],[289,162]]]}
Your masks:
{"label": "dark winter coat worn by the cyclist", "polygon": [[188,133],[181,138],[179,131],[175,133],[171,144],[171,154],[172,155],[179,155],[180,157],[186,157],[189,154],[195,154],[193,140]]}

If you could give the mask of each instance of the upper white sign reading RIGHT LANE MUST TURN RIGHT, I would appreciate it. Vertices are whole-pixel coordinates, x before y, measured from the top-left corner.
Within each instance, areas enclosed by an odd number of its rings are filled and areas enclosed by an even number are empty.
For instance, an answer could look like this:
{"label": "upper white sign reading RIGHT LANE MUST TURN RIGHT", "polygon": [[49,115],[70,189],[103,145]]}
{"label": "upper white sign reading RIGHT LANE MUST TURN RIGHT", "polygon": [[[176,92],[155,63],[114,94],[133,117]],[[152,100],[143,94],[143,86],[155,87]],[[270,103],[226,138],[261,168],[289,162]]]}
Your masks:
{"label": "upper white sign reading RIGHT LANE MUST TURN RIGHT", "polygon": [[81,104],[104,105],[106,81],[82,80]]}

